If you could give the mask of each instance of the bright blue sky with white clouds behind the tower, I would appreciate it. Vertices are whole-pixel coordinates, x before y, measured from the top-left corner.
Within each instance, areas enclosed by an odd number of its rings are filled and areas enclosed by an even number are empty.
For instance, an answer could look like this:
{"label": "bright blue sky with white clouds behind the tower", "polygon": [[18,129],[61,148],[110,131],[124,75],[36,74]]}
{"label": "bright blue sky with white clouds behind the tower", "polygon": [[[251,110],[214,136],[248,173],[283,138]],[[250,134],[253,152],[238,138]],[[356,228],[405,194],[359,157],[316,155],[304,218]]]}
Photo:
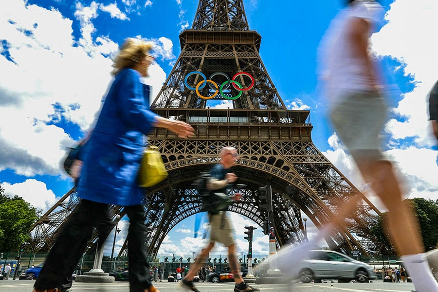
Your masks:
{"label": "bright blue sky with white clouds behind the tower", "polygon": [[[319,41],[341,0],[243,2],[250,29],[262,36],[260,55],[281,98],[289,109],[310,110],[314,144],[366,190],[329,125],[315,74]],[[372,49],[382,64],[391,106],[384,150],[398,166],[406,197],[437,199],[437,148],[426,96],[438,76],[433,37],[438,2],[381,3],[387,12],[385,25],[373,35]],[[1,1],[0,182],[6,193],[18,194],[45,212],[70,190],[73,183],[60,162],[100,108],[110,84],[110,56],[126,37],[153,42],[157,61],[146,83],[158,93],[181,52],[179,33],[191,27],[197,6],[198,0]],[[367,195],[379,205],[373,194]],[[251,222],[233,217],[239,252],[246,254],[243,226]],[[119,224],[116,252],[126,224]],[[193,226],[193,218],[177,225],[160,254],[198,252],[203,242],[193,238]],[[258,229],[255,238],[254,255],[266,255],[267,237]],[[223,251],[218,247],[215,253]]]}

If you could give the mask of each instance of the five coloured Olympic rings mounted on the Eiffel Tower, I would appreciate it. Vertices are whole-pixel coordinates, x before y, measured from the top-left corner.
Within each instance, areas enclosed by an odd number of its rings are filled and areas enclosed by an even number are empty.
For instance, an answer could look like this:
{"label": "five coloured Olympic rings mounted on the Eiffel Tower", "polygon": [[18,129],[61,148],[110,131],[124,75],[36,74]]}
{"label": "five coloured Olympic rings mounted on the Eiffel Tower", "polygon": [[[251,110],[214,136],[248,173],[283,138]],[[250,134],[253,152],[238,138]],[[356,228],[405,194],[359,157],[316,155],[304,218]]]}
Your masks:
{"label": "five coloured Olympic rings mounted on the Eiffel Tower", "polygon": [[[194,74],[200,74],[201,77],[202,77],[203,79],[202,79],[202,80],[196,85],[196,87],[191,87],[191,86],[188,84],[187,79],[188,79],[191,75],[194,75]],[[219,85],[218,85],[215,81],[212,80],[213,77],[215,77],[215,76],[217,76],[217,75],[220,75],[220,76],[223,76],[223,77],[227,78],[227,80],[226,80],[225,82],[222,82],[222,84],[220,85],[220,87],[219,87]],[[250,86],[248,86],[247,88],[243,88],[242,85],[241,85],[239,82],[236,81],[236,78],[237,78],[239,75],[245,75],[245,76],[249,77],[249,78],[251,79],[251,84],[250,84]],[[210,84],[209,84],[209,88],[215,91],[215,92],[213,93],[212,96],[203,96],[203,95],[201,95],[201,93],[199,92],[201,89],[203,89],[203,88],[205,87],[205,85],[206,85],[207,83],[210,83]],[[233,88],[234,88],[235,90],[239,91],[239,93],[238,93],[236,96],[228,97],[228,96],[225,95],[224,92],[223,92],[224,90],[228,90],[228,89],[230,88],[230,83],[233,84]],[[220,83],[219,83],[219,84],[220,84]],[[223,73],[223,72],[216,72],[216,73],[213,73],[213,74],[211,74],[210,77],[207,79],[207,77],[205,76],[205,74],[203,74],[202,72],[199,72],[199,71],[192,71],[192,72],[188,73],[187,75],[185,75],[185,78],[184,78],[184,85],[185,85],[185,87],[187,87],[187,88],[190,89],[190,90],[194,90],[194,91],[196,91],[196,94],[197,94],[199,97],[201,97],[202,99],[212,99],[212,98],[214,98],[216,95],[218,95],[218,93],[220,93],[220,95],[221,95],[223,98],[225,98],[225,99],[235,100],[235,99],[239,98],[239,97],[242,95],[242,92],[243,92],[243,91],[249,91],[250,89],[252,89],[252,88],[254,87],[254,84],[255,84],[254,77],[253,77],[250,73],[246,73],[246,72],[238,72],[238,73],[236,73],[236,74],[233,76],[233,78],[231,78],[231,80],[230,80],[230,78],[228,77],[228,75],[227,75],[226,73]]]}

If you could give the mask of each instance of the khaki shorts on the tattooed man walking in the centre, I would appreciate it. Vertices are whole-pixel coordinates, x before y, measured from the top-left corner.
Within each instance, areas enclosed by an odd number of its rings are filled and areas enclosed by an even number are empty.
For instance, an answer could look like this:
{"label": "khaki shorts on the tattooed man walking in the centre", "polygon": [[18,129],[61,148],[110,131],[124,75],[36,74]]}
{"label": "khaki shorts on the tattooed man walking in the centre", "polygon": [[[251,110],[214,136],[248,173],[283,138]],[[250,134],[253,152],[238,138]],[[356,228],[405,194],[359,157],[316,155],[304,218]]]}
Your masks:
{"label": "khaki shorts on the tattooed man walking in the centre", "polygon": [[226,247],[232,246],[234,243],[233,227],[230,224],[227,213],[220,211],[219,214],[208,214],[210,220],[210,242],[219,242]]}

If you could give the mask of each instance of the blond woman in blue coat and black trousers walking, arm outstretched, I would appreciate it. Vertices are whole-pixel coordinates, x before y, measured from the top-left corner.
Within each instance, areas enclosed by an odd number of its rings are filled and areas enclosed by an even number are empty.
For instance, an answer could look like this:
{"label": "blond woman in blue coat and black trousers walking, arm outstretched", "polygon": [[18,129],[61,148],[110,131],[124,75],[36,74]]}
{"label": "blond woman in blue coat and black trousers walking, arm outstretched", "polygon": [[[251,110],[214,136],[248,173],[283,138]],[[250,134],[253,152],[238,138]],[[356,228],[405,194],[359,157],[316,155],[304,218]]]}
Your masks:
{"label": "blond woman in blue coat and black trousers walking, arm outstretched", "polygon": [[137,182],[143,138],[152,127],[167,128],[183,138],[194,131],[182,121],[165,119],[149,110],[149,86],[139,78],[148,75],[153,61],[148,55],[150,49],[150,44],[128,38],[114,59],[114,81],[97,124],[82,148],[83,166],[77,183],[77,194],[82,200],[50,250],[34,292],[69,291],[69,279],[93,228],[103,229],[111,223],[110,204],[124,206],[129,217],[129,291],[157,291],[150,281],[144,247],[147,231],[143,191]]}

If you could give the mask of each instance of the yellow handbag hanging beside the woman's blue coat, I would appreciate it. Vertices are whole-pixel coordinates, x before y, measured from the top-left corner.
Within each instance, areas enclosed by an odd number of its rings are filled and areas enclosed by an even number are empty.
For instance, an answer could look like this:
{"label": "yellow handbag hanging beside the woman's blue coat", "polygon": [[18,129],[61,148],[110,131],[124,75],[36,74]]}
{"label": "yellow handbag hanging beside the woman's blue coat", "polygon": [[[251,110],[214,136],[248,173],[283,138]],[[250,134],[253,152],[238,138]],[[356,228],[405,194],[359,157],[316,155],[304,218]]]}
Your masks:
{"label": "yellow handbag hanging beside the woman's blue coat", "polygon": [[149,187],[162,182],[169,174],[157,146],[148,146],[140,164],[139,185]]}

